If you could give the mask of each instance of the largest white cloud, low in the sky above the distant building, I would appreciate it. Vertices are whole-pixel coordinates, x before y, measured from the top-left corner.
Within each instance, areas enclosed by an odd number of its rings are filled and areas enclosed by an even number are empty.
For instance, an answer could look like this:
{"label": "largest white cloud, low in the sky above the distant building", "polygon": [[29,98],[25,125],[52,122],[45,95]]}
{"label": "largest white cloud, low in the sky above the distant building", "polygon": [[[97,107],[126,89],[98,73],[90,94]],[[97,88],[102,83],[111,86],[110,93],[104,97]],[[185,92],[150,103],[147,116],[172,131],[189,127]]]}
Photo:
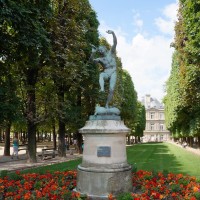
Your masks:
{"label": "largest white cloud, low in the sky above the distant building", "polygon": [[145,94],[158,99],[163,97],[163,84],[171,67],[172,49],[169,44],[170,40],[161,36],[145,38],[138,34],[131,44],[119,37],[119,56],[124,69],[130,73],[140,98]]}

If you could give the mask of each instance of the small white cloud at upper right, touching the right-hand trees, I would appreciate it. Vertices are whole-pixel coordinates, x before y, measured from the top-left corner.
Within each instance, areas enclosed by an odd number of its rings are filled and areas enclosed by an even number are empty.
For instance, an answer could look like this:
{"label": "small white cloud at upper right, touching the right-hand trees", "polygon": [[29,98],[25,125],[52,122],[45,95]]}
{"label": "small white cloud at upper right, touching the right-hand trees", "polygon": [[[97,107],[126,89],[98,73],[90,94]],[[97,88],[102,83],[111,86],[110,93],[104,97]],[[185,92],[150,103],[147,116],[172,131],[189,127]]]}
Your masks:
{"label": "small white cloud at upper right, touching the right-hand trees", "polygon": [[173,35],[174,24],[177,20],[178,3],[172,3],[167,5],[162,14],[164,17],[158,17],[155,19],[155,24],[162,33]]}

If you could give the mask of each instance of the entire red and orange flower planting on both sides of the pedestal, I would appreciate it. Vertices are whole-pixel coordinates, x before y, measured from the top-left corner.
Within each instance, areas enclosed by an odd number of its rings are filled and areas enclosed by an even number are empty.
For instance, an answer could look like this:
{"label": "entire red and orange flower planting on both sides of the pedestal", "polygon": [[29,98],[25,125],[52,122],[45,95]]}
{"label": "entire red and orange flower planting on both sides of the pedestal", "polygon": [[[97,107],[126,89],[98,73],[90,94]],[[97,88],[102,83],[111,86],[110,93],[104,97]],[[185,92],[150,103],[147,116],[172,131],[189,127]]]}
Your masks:
{"label": "entire red and orange flower planting on both sides of the pedestal", "polygon": [[[73,192],[76,187],[76,171],[46,174],[15,174],[0,178],[0,199],[85,199]],[[133,200],[199,200],[200,182],[195,177],[172,173],[133,173],[133,193],[119,197],[108,195],[108,199]]]}

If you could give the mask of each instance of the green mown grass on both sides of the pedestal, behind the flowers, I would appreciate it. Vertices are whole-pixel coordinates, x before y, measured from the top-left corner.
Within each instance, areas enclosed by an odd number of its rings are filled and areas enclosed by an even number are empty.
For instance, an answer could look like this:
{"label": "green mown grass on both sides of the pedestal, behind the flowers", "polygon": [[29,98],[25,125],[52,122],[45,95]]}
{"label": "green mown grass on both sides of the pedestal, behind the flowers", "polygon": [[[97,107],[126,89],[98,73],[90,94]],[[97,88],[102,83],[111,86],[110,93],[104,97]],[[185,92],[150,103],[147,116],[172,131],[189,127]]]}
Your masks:
{"label": "green mown grass on both sides of the pedestal, behind the flowers", "polygon": [[[127,159],[137,169],[168,171],[200,178],[200,156],[170,143],[147,143],[127,147]],[[77,169],[81,159],[24,170],[23,173],[45,173]]]}

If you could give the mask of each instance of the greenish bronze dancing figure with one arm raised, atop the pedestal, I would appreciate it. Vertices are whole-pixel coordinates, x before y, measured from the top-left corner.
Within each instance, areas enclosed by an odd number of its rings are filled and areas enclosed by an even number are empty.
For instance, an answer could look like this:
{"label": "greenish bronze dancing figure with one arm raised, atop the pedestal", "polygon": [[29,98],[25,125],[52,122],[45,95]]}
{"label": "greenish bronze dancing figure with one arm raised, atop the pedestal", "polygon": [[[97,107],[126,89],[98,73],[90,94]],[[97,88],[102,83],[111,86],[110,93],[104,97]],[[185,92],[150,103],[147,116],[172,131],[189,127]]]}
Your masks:
{"label": "greenish bronze dancing figure with one arm raised, atop the pedestal", "polygon": [[[116,85],[117,80],[117,64],[116,64],[116,46],[117,46],[117,38],[113,31],[108,30],[108,34],[113,35],[113,46],[110,50],[107,50],[105,46],[99,46],[96,48],[95,46],[92,46],[92,54],[90,59],[93,60],[96,63],[100,63],[102,67],[104,68],[104,71],[100,73],[99,76],[99,84],[100,84],[100,91],[104,92],[104,80],[109,80],[109,93],[106,101],[106,108],[108,108],[109,103],[111,102],[114,94],[114,89]],[[99,52],[102,57],[95,58],[94,54],[96,52]]]}

